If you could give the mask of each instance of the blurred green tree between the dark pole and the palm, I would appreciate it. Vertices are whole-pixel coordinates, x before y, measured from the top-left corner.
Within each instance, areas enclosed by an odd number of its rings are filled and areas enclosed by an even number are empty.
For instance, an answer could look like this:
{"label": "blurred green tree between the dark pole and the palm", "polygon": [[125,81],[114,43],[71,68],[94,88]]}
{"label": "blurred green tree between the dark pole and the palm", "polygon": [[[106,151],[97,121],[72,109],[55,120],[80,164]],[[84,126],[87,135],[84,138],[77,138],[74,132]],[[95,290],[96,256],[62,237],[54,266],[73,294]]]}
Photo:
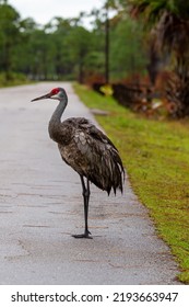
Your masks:
{"label": "blurred green tree between the dark pole and the palm", "polygon": [[116,80],[144,73],[147,58],[140,23],[128,16],[111,24],[110,73]]}

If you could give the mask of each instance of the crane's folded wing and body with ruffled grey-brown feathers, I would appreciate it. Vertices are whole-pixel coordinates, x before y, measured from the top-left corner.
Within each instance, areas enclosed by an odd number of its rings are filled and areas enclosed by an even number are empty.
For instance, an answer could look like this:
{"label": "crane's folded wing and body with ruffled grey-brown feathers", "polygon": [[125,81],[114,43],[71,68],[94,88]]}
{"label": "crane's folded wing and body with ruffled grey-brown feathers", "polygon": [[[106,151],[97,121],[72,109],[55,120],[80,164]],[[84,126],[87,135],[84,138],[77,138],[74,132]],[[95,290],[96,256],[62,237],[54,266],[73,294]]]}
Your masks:
{"label": "crane's folded wing and body with ruffled grey-brown feathers", "polygon": [[85,118],[63,122],[69,123],[72,127],[70,141],[67,146],[59,144],[62,159],[108,194],[111,189],[115,193],[117,189],[122,191],[125,170],[111,140]]}

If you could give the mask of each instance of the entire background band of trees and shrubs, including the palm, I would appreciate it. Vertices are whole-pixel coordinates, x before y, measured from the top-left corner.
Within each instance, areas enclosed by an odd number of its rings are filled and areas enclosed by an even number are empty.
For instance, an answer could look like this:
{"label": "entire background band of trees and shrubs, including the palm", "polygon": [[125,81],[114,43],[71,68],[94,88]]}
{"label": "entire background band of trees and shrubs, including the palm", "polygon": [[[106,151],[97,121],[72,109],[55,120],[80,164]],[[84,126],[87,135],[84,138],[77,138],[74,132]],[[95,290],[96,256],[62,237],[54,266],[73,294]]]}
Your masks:
{"label": "entire background band of trees and shrubs, including the palm", "polygon": [[[90,29],[84,26],[87,19]],[[188,116],[188,33],[184,0],[104,0],[88,15],[55,16],[45,25],[22,20],[9,0],[0,0],[0,83],[10,83],[15,73],[99,88],[125,82],[129,88],[123,91],[134,93],[131,104],[139,105],[132,110],[151,112],[158,98],[166,113]],[[119,96],[127,101],[128,92],[119,91]]]}

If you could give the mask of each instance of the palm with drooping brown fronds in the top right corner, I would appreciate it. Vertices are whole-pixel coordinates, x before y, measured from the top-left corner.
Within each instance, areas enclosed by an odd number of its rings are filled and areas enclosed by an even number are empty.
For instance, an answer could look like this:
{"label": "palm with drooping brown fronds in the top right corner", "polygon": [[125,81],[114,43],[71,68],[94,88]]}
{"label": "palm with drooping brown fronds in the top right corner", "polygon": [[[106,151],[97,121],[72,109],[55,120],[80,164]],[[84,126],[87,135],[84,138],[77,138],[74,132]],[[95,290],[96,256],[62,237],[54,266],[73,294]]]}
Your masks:
{"label": "palm with drooping brown fronds in the top right corner", "polygon": [[130,12],[155,33],[156,47],[169,55],[174,78],[165,89],[174,115],[189,115],[189,1],[129,0]]}

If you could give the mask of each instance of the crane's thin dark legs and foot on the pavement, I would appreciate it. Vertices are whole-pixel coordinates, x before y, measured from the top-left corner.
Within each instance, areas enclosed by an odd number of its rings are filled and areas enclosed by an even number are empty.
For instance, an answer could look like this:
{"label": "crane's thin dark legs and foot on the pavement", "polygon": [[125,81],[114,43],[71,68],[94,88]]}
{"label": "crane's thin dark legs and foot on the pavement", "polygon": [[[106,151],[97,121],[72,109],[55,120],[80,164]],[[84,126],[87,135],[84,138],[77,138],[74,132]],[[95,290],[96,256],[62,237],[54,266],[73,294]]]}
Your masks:
{"label": "crane's thin dark legs and foot on the pavement", "polygon": [[88,203],[90,203],[90,181],[88,181],[88,179],[86,179],[86,185],[85,185],[84,178],[82,175],[80,175],[80,178],[81,178],[81,183],[82,183],[82,189],[83,189],[85,229],[84,229],[84,234],[73,235],[73,237],[76,239],[79,239],[79,238],[92,239],[92,237],[90,237],[91,232],[88,231],[88,227],[87,227],[87,215],[88,215]]}

